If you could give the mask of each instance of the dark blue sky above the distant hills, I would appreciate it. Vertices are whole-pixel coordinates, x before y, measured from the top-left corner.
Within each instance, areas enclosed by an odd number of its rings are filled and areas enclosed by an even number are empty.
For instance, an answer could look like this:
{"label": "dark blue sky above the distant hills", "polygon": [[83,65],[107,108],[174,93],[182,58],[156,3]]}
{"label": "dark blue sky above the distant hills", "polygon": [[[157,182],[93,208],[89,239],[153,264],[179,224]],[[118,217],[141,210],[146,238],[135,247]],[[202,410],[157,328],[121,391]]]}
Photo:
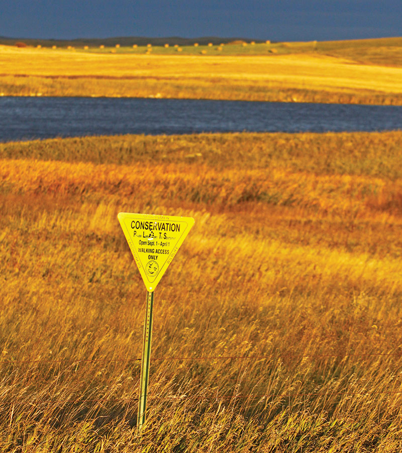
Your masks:
{"label": "dark blue sky above the distant hills", "polygon": [[276,41],[402,36],[402,0],[0,0],[0,36],[245,37]]}

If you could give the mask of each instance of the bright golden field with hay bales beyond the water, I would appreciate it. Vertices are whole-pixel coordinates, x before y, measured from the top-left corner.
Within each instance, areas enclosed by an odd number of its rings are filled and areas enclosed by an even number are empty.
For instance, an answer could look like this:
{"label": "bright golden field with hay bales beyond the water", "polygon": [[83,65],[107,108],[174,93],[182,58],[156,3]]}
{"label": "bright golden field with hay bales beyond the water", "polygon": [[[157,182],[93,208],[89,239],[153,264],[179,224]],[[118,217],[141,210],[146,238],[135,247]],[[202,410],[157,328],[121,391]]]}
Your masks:
{"label": "bright golden field with hay bales beyond the water", "polygon": [[402,38],[167,48],[0,46],[0,94],[402,105],[401,55]]}

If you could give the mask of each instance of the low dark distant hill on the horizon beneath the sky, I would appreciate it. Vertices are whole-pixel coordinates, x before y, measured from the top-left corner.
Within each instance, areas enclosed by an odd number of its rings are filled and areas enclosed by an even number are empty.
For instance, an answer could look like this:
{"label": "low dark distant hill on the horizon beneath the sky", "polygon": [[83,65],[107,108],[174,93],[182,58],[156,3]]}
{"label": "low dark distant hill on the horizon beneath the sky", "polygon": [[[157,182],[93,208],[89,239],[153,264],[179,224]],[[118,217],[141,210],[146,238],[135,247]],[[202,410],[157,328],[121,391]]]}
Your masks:
{"label": "low dark distant hill on the horizon beneath the sky", "polygon": [[199,45],[207,45],[209,42],[214,44],[224,43],[227,44],[232,41],[255,41],[256,43],[265,42],[258,39],[251,38],[220,38],[219,36],[203,36],[199,38],[181,38],[179,36],[168,36],[165,38],[147,38],[144,36],[117,36],[113,38],[77,38],[77,39],[32,39],[32,38],[8,38],[5,36],[0,36],[0,44],[14,46],[17,42],[24,42],[29,46],[57,46],[57,47],[67,47],[67,46],[100,46],[101,44],[107,47],[114,47],[116,44],[121,46],[132,46],[137,44],[138,46],[146,46],[147,44],[152,44],[152,46],[163,46],[164,44],[169,44],[173,46],[178,44],[179,46],[192,46],[194,43]]}

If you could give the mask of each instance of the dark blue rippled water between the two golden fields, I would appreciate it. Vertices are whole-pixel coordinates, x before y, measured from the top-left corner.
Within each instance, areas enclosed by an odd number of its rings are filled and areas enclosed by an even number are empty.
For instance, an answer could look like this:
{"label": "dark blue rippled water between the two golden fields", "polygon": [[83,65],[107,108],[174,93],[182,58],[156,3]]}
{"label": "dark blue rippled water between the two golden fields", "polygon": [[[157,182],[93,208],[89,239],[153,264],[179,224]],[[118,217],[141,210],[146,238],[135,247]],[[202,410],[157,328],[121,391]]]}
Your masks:
{"label": "dark blue rippled water between the two golden fields", "polygon": [[116,134],[402,129],[402,107],[144,98],[2,97],[0,141]]}

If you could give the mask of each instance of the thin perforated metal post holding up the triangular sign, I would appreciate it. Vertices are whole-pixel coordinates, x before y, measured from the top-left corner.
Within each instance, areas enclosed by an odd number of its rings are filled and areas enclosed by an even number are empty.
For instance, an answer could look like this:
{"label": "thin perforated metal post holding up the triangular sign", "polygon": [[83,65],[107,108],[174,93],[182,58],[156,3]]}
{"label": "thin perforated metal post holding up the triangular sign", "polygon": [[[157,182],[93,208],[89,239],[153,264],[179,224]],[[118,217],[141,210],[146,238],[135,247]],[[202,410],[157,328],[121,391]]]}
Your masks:
{"label": "thin perforated metal post holding up the triangular sign", "polygon": [[138,402],[137,416],[137,427],[139,431],[141,430],[142,425],[145,423],[147,408],[149,362],[151,359],[153,305],[154,293],[147,291],[147,305],[144,320],[144,340],[142,344],[141,358],[140,398]]}

